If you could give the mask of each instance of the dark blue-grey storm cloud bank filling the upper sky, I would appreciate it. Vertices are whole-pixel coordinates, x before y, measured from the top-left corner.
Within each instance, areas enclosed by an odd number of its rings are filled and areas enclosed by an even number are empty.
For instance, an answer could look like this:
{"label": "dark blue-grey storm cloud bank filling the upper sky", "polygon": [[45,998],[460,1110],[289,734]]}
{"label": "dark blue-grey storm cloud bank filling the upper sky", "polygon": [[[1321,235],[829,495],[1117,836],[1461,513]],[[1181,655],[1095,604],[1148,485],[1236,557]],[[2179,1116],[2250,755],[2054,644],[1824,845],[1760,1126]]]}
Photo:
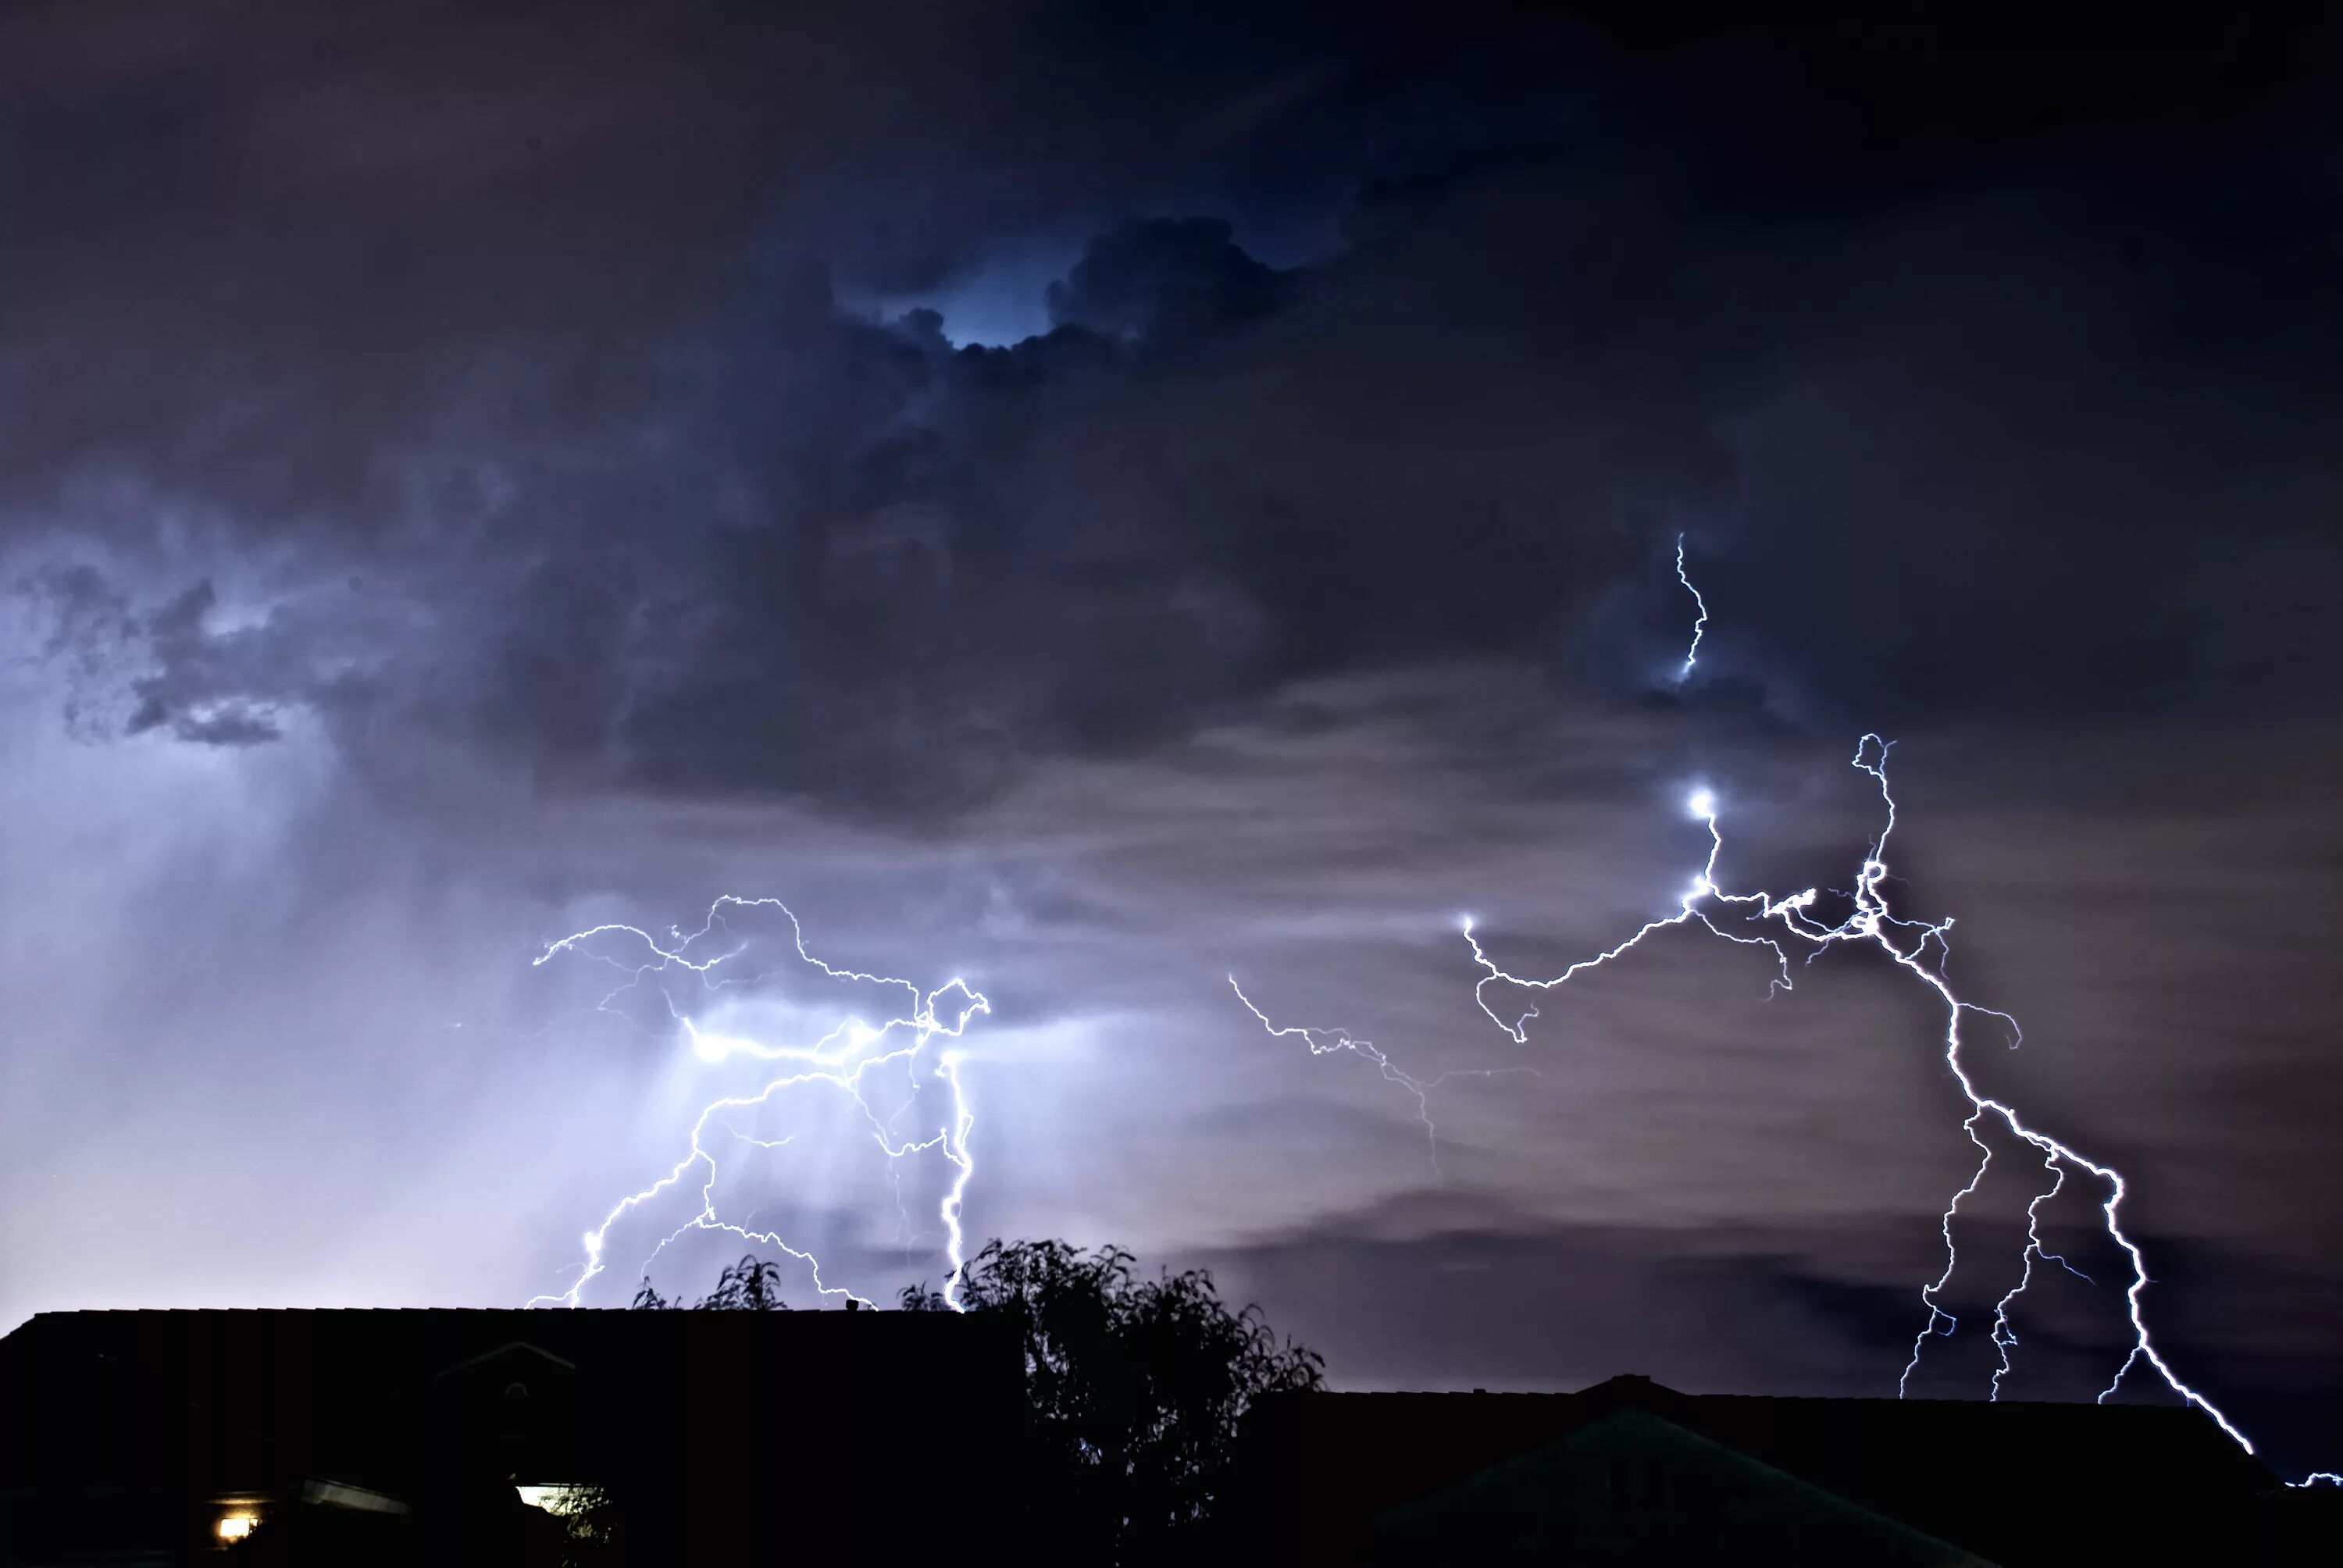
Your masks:
{"label": "dark blue-grey storm cloud bank filling the upper sky", "polygon": [[[965,68],[1024,49],[1031,82],[1085,84],[977,113],[822,16],[351,12],[258,54],[237,14],[143,49],[42,16],[84,94],[16,110],[54,145],[35,178],[80,173],[23,192],[45,244],[7,279],[42,302],[9,333],[42,389],[21,504],[73,516],[96,466],[295,570],[370,572],[436,621],[366,649],[375,741],[949,811],[1300,675],[1502,656],[1654,689],[1678,532],[1734,605],[1720,701],[2153,705],[2224,642],[2207,574],[2324,560],[2336,190],[2270,171],[2298,113],[2238,91],[2287,82],[2259,35],[2188,70],[2149,40],[2059,110],[2067,38],[1985,63],[1961,33],[1596,23],[1504,63],[1467,21],[1403,28],[1401,70],[1396,35],[1324,56],[1286,19],[1254,66],[1200,45],[1183,70],[1141,63],[1146,23],[1033,16]],[[1994,136],[1917,89],[1963,61],[2015,94]],[[148,108],[94,117],[89,89]],[[930,89],[925,129],[888,120]],[[1333,157],[1312,115],[1378,136]],[[2144,166],[2167,124],[2188,162]],[[1279,270],[1225,218],[1125,220],[1010,349],[834,305],[1254,164],[1364,178],[1343,248]],[[897,178],[846,204],[867,169]],[[902,185],[961,173],[942,209]],[[148,609],[166,673],[136,724],[248,743],[284,703],[347,705],[337,616],[272,626]]]}

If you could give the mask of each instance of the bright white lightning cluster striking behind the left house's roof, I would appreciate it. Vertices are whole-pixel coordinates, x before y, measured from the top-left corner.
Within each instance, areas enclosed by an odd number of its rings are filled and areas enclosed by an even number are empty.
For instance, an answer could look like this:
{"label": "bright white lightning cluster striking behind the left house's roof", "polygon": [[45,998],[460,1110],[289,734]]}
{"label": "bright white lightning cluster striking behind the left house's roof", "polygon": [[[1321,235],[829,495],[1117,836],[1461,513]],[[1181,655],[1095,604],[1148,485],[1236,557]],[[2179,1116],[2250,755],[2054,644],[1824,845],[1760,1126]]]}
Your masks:
{"label": "bright white lightning cluster striking behind the left house's roof", "polygon": [[[968,1184],[977,1170],[975,1160],[968,1153],[968,1134],[975,1127],[975,1113],[968,1109],[968,1092],[961,1083],[961,1052],[942,1050],[935,1055],[933,1062],[928,1062],[925,1055],[930,1041],[940,1036],[958,1038],[968,1029],[968,1020],[972,1020],[977,1013],[991,1013],[991,1003],[979,991],[972,991],[965,980],[954,977],[935,987],[933,991],[921,991],[914,982],[897,980],[893,975],[869,975],[862,970],[836,968],[822,959],[815,959],[806,949],[806,930],[799,923],[797,912],[792,912],[785,902],[780,902],[778,898],[736,898],[731,893],[726,893],[724,898],[715,900],[708,907],[708,919],[701,923],[698,930],[689,935],[670,930],[668,938],[670,945],[665,947],[637,926],[604,923],[604,926],[590,926],[588,930],[576,930],[567,938],[560,938],[558,942],[551,942],[541,954],[537,954],[532,966],[544,966],[562,954],[579,954],[595,959],[600,963],[609,963],[612,968],[619,968],[621,973],[626,973],[626,980],[619,987],[614,987],[607,996],[602,996],[600,1003],[595,1003],[602,1010],[609,1010],[609,1005],[621,994],[640,987],[651,975],[661,975],[668,970],[684,970],[708,989],[724,984],[752,984],[761,975],[750,975],[745,980],[715,977],[715,970],[738,959],[745,952],[745,945],[733,947],[731,952],[710,954],[705,959],[694,956],[691,952],[694,945],[703,942],[719,926],[724,926],[726,909],[778,909],[783,916],[787,916],[792,945],[797,949],[797,956],[806,966],[820,970],[829,980],[851,980],[902,991],[904,1008],[902,1013],[888,1017],[881,1024],[865,1022],[860,1015],[848,1015],[843,1022],[839,1022],[836,1029],[820,1036],[811,1045],[769,1045],[764,1041],[745,1036],[715,1034],[701,1029],[689,1015],[675,1013],[675,1001],[668,998],[668,1013],[675,1015],[682,1029],[682,1038],[689,1043],[691,1052],[701,1062],[724,1062],[738,1055],[764,1062],[787,1062],[797,1071],[785,1071],[771,1078],[764,1088],[759,1088],[752,1095],[726,1095],[722,1099],[710,1102],[698,1113],[698,1120],[691,1123],[689,1148],[668,1170],[668,1174],[658,1177],[656,1181],[635,1193],[628,1193],[626,1198],[619,1198],[609,1207],[609,1212],[602,1214],[602,1221],[586,1233],[583,1238],[586,1263],[579,1277],[569,1284],[569,1289],[553,1296],[534,1296],[530,1305],[569,1305],[569,1308],[579,1305],[579,1291],[586,1289],[586,1284],[590,1284],[607,1268],[612,1226],[616,1226],[621,1219],[626,1219],[642,1205],[651,1202],[661,1193],[686,1186],[691,1172],[701,1172],[701,1184],[698,1184],[701,1207],[691,1219],[686,1219],[682,1226],[661,1238],[656,1247],[651,1247],[649,1256],[642,1261],[640,1268],[642,1275],[649,1275],[651,1263],[656,1263],[658,1256],[668,1249],[668,1245],[679,1240],[682,1235],[694,1230],[724,1233],[724,1235],[736,1235],[745,1242],[776,1247],[787,1256],[797,1259],[811,1270],[813,1289],[825,1298],[841,1296],[860,1305],[874,1305],[869,1298],[858,1296],[843,1284],[825,1282],[822,1263],[811,1252],[790,1245],[773,1230],[754,1230],[747,1223],[729,1221],[717,1212],[715,1188],[717,1188],[717,1177],[722,1172],[717,1165],[717,1151],[708,1144],[708,1130],[719,1127],[745,1144],[754,1144],[759,1148],[778,1148],[790,1139],[752,1139],[738,1132],[738,1127],[729,1123],[729,1113],[752,1111],[757,1106],[764,1106],[783,1090],[822,1085],[827,1090],[846,1095],[862,1111],[862,1116],[872,1125],[872,1139],[879,1144],[881,1151],[886,1151],[890,1172],[900,1170],[902,1160],[930,1151],[940,1153],[942,1160],[951,1167],[951,1181],[944,1191],[942,1202],[937,1205],[937,1219],[942,1221],[944,1228],[944,1259],[949,1263],[949,1273],[944,1275],[944,1301],[954,1310],[963,1310],[961,1266],[965,1263],[963,1256],[965,1238],[961,1230],[961,1212],[968,1202]],[[628,966],[602,952],[607,938],[623,940],[626,945],[640,945],[642,949],[647,949],[649,956],[644,956],[640,963]],[[890,1123],[902,1116],[902,1109],[907,1109],[909,1102],[888,1118],[881,1118],[872,1109],[872,1104],[865,1099],[865,1080],[869,1080],[872,1073],[881,1069],[897,1069],[911,1083],[914,1099],[928,1083],[937,1083],[944,1088],[951,1109],[933,1137],[909,1141],[909,1139],[897,1139],[890,1132]]]}

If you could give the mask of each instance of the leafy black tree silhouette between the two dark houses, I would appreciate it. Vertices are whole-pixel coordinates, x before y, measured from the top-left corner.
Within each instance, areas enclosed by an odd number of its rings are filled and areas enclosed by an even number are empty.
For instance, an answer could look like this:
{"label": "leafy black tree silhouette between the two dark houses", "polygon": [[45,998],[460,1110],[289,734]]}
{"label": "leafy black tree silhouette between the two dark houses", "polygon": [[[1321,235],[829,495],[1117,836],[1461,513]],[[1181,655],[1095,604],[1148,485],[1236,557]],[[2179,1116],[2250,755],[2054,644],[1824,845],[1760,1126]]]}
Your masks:
{"label": "leafy black tree silhouette between the two dark houses", "polygon": [[[1230,1479],[1237,1423],[1272,1390],[1319,1388],[1324,1357],[1230,1310],[1207,1270],[1141,1280],[1120,1247],[986,1242],[958,1277],[965,1310],[1024,1336],[1026,1397],[1066,1526],[1118,1561],[1181,1554]],[[911,1313],[949,1310],[902,1291]]]}

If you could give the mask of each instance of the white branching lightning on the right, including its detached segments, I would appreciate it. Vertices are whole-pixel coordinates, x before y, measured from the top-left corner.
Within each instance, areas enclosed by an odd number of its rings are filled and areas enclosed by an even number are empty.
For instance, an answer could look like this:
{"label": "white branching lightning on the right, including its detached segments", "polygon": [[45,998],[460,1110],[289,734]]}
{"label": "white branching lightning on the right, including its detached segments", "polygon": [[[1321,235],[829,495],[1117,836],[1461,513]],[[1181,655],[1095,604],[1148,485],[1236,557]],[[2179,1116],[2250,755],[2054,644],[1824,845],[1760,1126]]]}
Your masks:
{"label": "white branching lightning on the right, including its detached segments", "polygon": [[[1692,628],[1692,645],[1685,649],[1685,663],[1675,677],[1678,682],[1682,682],[1692,675],[1694,666],[1699,663],[1701,635],[1708,626],[1708,602],[1701,598],[1701,591],[1692,584],[1692,577],[1685,570],[1682,534],[1678,534],[1675,539],[1675,577],[1685,586],[1685,591],[1692,593],[1692,600],[1699,609],[1699,619],[1694,621]],[[2170,1362],[2165,1362],[2163,1352],[2156,1348],[2156,1341],[2149,1334],[2149,1322],[2142,1305],[2142,1296],[2149,1289],[2149,1268],[2139,1245],[2123,1230],[2120,1209],[2125,1195],[2130,1193],[2123,1172],[2099,1160],[2090,1160],[2071,1144],[2064,1144],[2050,1137],[2048,1132],[2041,1132],[2020,1116],[2017,1106],[1982,1092],[1975,1078],[1970,1078],[1968,1064],[1963,1062],[1961,1055],[1961,1048],[1966,1045],[1961,1031],[1963,1022],[1975,1024],[1977,1020],[1992,1020],[1994,1024],[2006,1029],[2008,1045],[2013,1050],[2022,1045],[2024,1036],[2017,1027],[2017,1020],[2010,1017],[2008,1013],[1999,1013],[1994,1008],[1963,1001],[1952,989],[1952,982],[1945,973],[1952,956],[1954,921],[1949,916],[1933,923],[1914,921],[1898,916],[1888,905],[1886,848],[1888,848],[1888,837],[1895,832],[1895,797],[1888,790],[1888,771],[1886,771],[1888,745],[1891,743],[1879,738],[1877,734],[1865,734],[1856,743],[1853,766],[1867,773],[1879,785],[1879,799],[1884,804],[1886,816],[1879,827],[1879,837],[1872,839],[1870,853],[1865,853],[1860,870],[1856,872],[1853,891],[1844,895],[1853,905],[1844,921],[1828,923],[1816,914],[1821,888],[1804,888],[1799,893],[1790,893],[1788,898],[1776,898],[1771,893],[1727,893],[1717,884],[1717,860],[1724,853],[1724,834],[1717,827],[1720,804],[1715,792],[1701,785],[1685,799],[1685,809],[1708,827],[1708,858],[1701,865],[1701,872],[1692,879],[1692,884],[1678,895],[1675,914],[1647,921],[1624,942],[1603,949],[1591,959],[1582,959],[1570,968],[1565,968],[1560,975],[1544,980],[1514,975],[1500,968],[1497,961],[1488,956],[1481,940],[1474,935],[1471,919],[1467,919],[1464,942],[1471,949],[1474,963],[1483,970],[1481,980],[1474,984],[1476,1005],[1514,1043],[1525,1043],[1530,1038],[1528,1024],[1530,1020],[1537,1017],[1537,1008],[1535,1005],[1525,1008],[1514,1020],[1507,1020],[1490,1005],[1488,998],[1490,984],[1504,982],[1525,991],[1553,991],[1572,982],[1574,977],[1584,975],[1586,970],[1600,968],[1605,963],[1626,956],[1628,952],[1640,947],[1645,938],[1649,938],[1657,930],[1666,930],[1671,926],[1696,923],[1710,935],[1724,938],[1727,942],[1736,942],[1741,947],[1764,947],[1774,956],[1774,970],[1776,970],[1767,982],[1767,994],[1776,989],[1781,991],[1792,989],[1792,977],[1790,977],[1792,947],[1804,947],[1806,949],[1804,959],[1809,963],[1825,949],[1837,945],[1877,947],[1888,959],[1893,959],[1898,968],[1907,970],[1912,977],[1917,977],[1921,984],[1935,991],[1938,1001],[1942,1003],[1945,1066],[1952,1071],[1954,1083],[1959,1083],[1961,1088],[1961,1097],[1968,1102],[1968,1116],[1961,1118],[1961,1132],[1977,1148],[1975,1172],[1970,1174],[1968,1184],[1961,1186],[1945,1205],[1945,1214],[1940,1221],[1940,1230],[1945,1238],[1945,1270],[1933,1282],[1924,1284],[1919,1291],[1921,1305],[1926,1308],[1926,1320],[1912,1341],[1912,1357],[1905,1362],[1903,1376],[1895,1380],[1898,1395],[1903,1395],[1910,1388],[1912,1371],[1919,1366],[1921,1352],[1926,1350],[1928,1341],[1938,1336],[1949,1336],[1956,1327],[1954,1315],[1940,1305],[1940,1296],[1945,1287],[1952,1282],[1954,1270],[1959,1268],[1959,1252],[1954,1247],[1952,1226],[1961,1209],[1961,1202],[1982,1186],[1985,1174],[1992,1167],[1994,1151],[1992,1144],[1987,1144],[1982,1130],[1994,1127],[1999,1123],[1999,1127],[2003,1127],[2010,1137],[2020,1139],[2041,1155],[2043,1170],[2050,1172],[2050,1184],[2043,1191],[2038,1191],[2027,1205],[2027,1245],[2022,1254],[2022,1270],[2017,1284],[2013,1284],[1994,1303],[1992,1343],[1999,1364],[1994,1369],[1987,1397],[1989,1399],[2001,1397],[2001,1380],[2010,1371],[2010,1350],[2017,1345],[2017,1334],[2010,1327],[2010,1310],[2017,1305],[2027,1287],[2034,1282],[2036,1263],[2057,1263],[2059,1268],[2067,1268],[2076,1277],[2090,1280],[2090,1275],[2083,1275],[2083,1270],[2074,1268],[2074,1263],[2069,1263],[2064,1256],[2050,1252],[2043,1245],[2041,1235],[2043,1205],[2055,1200],[2067,1188],[2069,1177],[2081,1174],[2099,1184],[2104,1193],[2104,1198],[2099,1200],[2099,1212],[2106,1235],[2130,1266],[2130,1284],[2123,1291],[2123,1303],[2132,1338],[2123,1362],[2116,1366],[2113,1378],[2109,1378],[2106,1388],[2099,1390],[2099,1402],[2104,1404],[2137,1366],[2146,1364],[2158,1378],[2163,1378],[2165,1388],[2170,1388],[2174,1395],[2205,1411],[2205,1416],[2209,1416],[2221,1427],[2221,1432],[2226,1432],[2240,1448],[2252,1453],[2254,1444],[2245,1437],[2245,1432],[2240,1432],[2238,1425],[2231,1423],[2231,1418],[2221,1413],[2219,1406],[2212,1404],[2212,1399],[2207,1399],[2200,1390],[2191,1388],[2179,1378],[2179,1373],[2172,1369]],[[1931,947],[1935,949],[1933,956]],[[1230,984],[1235,984],[1235,980],[1230,980]],[[1300,1036],[1303,1041],[1307,1041],[1314,1055],[1324,1055],[1331,1050],[1354,1050],[1366,1055],[1371,1062],[1378,1064],[1385,1078],[1401,1083],[1410,1095],[1415,1095],[1415,1102],[1422,1109],[1425,1127],[1427,1130],[1432,1127],[1427,1090],[1439,1080],[1422,1083],[1401,1073],[1389,1064],[1389,1059],[1385,1059],[1380,1050],[1375,1050],[1366,1041],[1354,1041],[1350,1034],[1340,1029],[1298,1029],[1298,1027],[1279,1029],[1270,1024],[1270,1020],[1263,1017],[1258,1008],[1254,1008],[1254,1003],[1244,996],[1242,989],[1237,991],[1237,998],[1244,1001],[1246,1010],[1251,1010],[1254,1017],[1258,1017],[1261,1024],[1272,1036]],[[2303,1481],[2289,1481],[2289,1486],[2313,1486],[2320,1481],[2343,1484],[2343,1477],[2334,1472],[2315,1472]]]}

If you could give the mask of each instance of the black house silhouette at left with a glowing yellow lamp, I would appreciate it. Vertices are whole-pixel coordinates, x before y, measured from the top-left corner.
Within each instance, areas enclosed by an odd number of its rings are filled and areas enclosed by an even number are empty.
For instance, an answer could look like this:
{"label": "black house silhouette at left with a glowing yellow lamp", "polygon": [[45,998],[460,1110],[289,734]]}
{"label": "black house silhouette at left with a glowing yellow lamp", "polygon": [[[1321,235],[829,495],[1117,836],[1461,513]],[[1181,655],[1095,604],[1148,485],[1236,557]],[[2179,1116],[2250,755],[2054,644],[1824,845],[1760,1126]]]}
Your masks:
{"label": "black house silhouette at left with a glowing yellow lamp", "polygon": [[947,1542],[1022,1495],[1012,1329],[951,1313],[45,1313],[0,1338],[0,1563],[628,1563]]}

